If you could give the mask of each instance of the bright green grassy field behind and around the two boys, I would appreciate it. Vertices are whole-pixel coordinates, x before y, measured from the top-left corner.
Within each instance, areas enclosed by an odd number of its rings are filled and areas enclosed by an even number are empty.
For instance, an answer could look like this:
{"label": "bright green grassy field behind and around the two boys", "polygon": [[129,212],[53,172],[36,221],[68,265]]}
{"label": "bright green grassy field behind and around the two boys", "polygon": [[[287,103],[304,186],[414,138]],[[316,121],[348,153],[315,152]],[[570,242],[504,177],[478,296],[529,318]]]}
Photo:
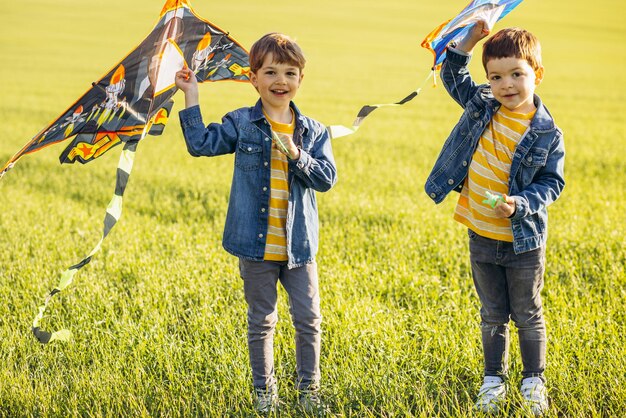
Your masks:
{"label": "bright green grassy field behind and around the two boys", "polygon": [[[139,43],[162,6],[0,2],[1,162]],[[270,31],[296,37],[308,58],[298,105],[345,125],[363,104],[422,83],[432,59],[422,38],[465,3],[192,2],[247,47]],[[541,39],[538,93],[566,139],[543,293],[550,416],[626,410],[625,12],[622,0],[526,0],[496,27]],[[478,59],[472,71],[483,78]],[[247,84],[201,86],[207,121],[255,100]],[[436,206],[423,192],[459,115],[442,87],[427,85],[333,143],[339,182],[318,196],[318,263],[323,394],[337,416],[472,416],[482,351],[466,234],[452,220],[454,197]],[[254,415],[242,282],[221,248],[232,156],[191,158],[176,114],[163,136],[140,144],[121,221],[51,304],[44,328],[70,328],[73,341],[36,342],[37,307],[100,237],[120,150],[61,166],[64,146],[24,157],[0,181],[0,416]],[[293,330],[280,297],[281,411],[296,416]],[[507,414],[523,416],[511,393]]]}

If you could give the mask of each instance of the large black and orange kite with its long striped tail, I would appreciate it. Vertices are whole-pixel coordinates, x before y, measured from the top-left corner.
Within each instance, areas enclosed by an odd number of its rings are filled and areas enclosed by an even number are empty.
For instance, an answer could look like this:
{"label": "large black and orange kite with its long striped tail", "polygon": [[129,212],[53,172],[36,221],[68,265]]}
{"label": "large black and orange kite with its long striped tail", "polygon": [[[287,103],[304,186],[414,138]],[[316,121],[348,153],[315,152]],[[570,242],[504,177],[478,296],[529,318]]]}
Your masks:
{"label": "large black and orange kite with its long striped tail", "polygon": [[73,138],[61,153],[61,163],[93,161],[124,144],[117,167],[114,196],[104,218],[102,238],[79,263],[61,273],[58,285],[39,307],[32,331],[41,343],[68,340],[69,330],[54,333],[40,328],[51,298],[71,284],[76,272],[93,255],[122,212],[122,196],[138,143],[148,134],[160,135],[176,93],[175,74],[193,70],[198,82],[249,81],[248,52],[227,32],[199,17],[188,0],[167,0],[154,29],[119,63],[57,119],[42,129],[0,170],[0,178],[24,155]]}

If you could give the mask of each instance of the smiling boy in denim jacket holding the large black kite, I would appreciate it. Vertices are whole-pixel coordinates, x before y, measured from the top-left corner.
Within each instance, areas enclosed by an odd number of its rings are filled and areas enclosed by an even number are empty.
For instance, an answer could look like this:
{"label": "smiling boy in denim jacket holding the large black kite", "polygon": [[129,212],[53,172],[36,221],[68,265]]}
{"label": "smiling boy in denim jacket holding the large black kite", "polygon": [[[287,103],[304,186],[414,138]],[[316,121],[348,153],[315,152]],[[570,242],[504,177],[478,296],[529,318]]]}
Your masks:
{"label": "smiling boy in denim jacket holding the large black kite", "polygon": [[337,174],[325,127],[302,115],[292,101],[304,65],[304,55],[292,39],[278,33],[263,36],[250,50],[250,81],[260,99],[254,107],[232,111],[222,123],[206,127],[193,72],[183,69],[176,77],[176,86],[185,93],[180,120],[189,153],[235,154],[222,244],[239,258],[248,303],[255,407],[260,413],[278,405],[273,352],[278,280],[289,295],[296,330],[300,403],[309,412],[322,407],[315,192],[329,190]]}

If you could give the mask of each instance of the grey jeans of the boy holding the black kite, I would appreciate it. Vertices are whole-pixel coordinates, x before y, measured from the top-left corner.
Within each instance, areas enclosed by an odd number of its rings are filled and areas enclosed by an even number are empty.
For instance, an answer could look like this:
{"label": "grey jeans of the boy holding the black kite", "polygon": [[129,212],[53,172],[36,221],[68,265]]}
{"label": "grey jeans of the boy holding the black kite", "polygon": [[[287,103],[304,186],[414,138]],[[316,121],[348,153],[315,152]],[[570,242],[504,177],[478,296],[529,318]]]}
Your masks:
{"label": "grey jeans of the boy holding the black kite", "polygon": [[322,316],[315,261],[288,269],[286,262],[239,259],[239,272],[248,302],[248,350],[254,387],[268,390],[276,384],[274,329],[278,321],[278,280],[289,296],[296,330],[297,387],[306,389],[318,384]]}

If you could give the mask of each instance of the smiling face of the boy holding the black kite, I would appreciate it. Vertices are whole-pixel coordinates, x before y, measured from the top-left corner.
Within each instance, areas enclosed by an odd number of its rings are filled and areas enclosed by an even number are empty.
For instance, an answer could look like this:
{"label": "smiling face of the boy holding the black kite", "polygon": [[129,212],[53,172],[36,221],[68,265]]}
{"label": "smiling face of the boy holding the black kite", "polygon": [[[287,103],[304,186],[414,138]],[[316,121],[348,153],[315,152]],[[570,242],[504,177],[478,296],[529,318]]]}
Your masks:
{"label": "smiling face of the boy holding the black kite", "polygon": [[274,62],[272,54],[267,54],[261,68],[250,74],[250,81],[267,110],[286,111],[303,76],[297,66]]}

